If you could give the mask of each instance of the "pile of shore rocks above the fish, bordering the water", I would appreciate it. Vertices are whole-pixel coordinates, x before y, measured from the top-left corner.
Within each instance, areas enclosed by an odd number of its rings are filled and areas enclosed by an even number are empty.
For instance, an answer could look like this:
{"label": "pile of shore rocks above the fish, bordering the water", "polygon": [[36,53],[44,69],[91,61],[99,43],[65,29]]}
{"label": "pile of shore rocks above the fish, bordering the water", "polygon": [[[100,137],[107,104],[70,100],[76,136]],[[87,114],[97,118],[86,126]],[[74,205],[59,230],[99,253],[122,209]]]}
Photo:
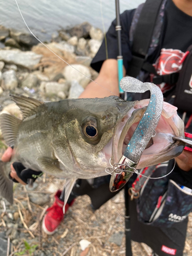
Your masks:
{"label": "pile of shore rocks above the fish, bordering the water", "polygon": [[0,26],[0,110],[11,103],[10,93],[50,101],[78,98],[98,75],[90,63],[102,39],[102,31],[87,22],[53,33],[45,46],[32,34]]}

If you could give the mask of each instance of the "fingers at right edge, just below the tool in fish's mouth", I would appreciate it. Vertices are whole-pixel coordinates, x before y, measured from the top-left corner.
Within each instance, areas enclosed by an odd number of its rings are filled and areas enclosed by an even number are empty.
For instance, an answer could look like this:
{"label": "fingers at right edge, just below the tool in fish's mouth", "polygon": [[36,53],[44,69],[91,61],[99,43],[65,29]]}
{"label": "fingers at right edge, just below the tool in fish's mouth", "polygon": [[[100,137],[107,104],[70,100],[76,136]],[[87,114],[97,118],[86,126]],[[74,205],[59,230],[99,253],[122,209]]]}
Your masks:
{"label": "fingers at right edge, just below the tool in fish's mouth", "polygon": [[188,172],[192,169],[192,152],[184,150],[181,155],[176,157],[176,163],[180,169]]}

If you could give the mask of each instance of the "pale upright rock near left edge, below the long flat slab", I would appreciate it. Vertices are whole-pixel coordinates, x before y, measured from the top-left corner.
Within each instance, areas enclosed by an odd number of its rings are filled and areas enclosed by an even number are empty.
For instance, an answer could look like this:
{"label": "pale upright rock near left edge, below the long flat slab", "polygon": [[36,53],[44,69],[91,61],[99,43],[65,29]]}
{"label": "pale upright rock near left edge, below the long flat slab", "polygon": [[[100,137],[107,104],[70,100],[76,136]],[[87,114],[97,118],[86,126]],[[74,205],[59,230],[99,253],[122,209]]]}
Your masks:
{"label": "pale upright rock near left edge, below the long flat slab", "polygon": [[13,90],[18,86],[16,73],[14,70],[8,70],[3,73],[2,88],[4,90]]}

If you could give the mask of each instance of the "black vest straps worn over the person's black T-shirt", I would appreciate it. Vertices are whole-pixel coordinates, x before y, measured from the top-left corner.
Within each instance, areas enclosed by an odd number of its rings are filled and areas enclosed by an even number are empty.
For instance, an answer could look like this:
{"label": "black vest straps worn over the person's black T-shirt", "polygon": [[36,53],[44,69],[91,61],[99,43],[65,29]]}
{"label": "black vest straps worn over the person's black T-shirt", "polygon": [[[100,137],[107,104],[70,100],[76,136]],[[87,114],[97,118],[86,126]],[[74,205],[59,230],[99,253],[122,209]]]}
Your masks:
{"label": "black vest straps worn over the person's black T-shirt", "polygon": [[[132,61],[127,75],[140,80],[153,73],[153,82],[176,84],[166,101],[174,104],[179,110],[192,113],[192,45],[185,53],[182,69],[179,72],[158,75],[151,63],[146,61],[157,45],[152,46],[152,39],[158,41],[162,28],[162,13],[167,0],[146,0],[135,11],[130,29]],[[152,8],[153,6],[153,8]],[[161,15],[160,15],[161,13]]]}

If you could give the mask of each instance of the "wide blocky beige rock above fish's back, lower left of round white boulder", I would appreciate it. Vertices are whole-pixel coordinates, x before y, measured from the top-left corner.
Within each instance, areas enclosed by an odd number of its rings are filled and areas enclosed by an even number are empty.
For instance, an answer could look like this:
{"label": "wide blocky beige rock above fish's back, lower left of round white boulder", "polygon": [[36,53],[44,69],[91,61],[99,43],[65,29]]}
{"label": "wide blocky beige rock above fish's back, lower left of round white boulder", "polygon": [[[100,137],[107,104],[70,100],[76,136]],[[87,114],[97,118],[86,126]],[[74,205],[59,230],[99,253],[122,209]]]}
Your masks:
{"label": "wide blocky beige rock above fish's back, lower left of round white boulder", "polygon": [[39,90],[47,96],[58,95],[60,92],[63,92],[66,95],[69,87],[66,83],[41,82]]}

